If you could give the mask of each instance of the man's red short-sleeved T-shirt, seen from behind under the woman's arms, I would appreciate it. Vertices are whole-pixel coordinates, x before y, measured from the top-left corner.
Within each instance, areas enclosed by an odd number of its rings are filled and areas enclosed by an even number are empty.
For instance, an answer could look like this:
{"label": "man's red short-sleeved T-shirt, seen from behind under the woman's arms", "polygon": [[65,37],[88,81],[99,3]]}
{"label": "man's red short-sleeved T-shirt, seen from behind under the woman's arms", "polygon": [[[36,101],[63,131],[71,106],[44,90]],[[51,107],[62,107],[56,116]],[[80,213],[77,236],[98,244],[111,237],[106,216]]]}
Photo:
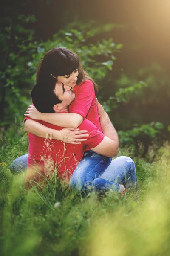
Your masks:
{"label": "man's red short-sleeved T-shirt, seen from behind under the woman's arms", "polygon": [[[31,119],[26,117],[24,121]],[[52,125],[45,121],[39,121],[42,125],[45,125],[51,129],[61,130],[62,127]],[[29,140],[29,156],[28,156],[28,167],[39,166],[43,169],[53,171],[57,168],[59,177],[69,180],[74,169],[78,163],[82,160],[84,155],[85,146],[88,148],[95,148],[103,140],[104,134],[89,120],[85,119],[79,126],[80,130],[87,130],[89,137],[87,141],[79,145],[70,143],[63,143],[60,140],[51,140],[37,137],[34,134],[28,133]]]}

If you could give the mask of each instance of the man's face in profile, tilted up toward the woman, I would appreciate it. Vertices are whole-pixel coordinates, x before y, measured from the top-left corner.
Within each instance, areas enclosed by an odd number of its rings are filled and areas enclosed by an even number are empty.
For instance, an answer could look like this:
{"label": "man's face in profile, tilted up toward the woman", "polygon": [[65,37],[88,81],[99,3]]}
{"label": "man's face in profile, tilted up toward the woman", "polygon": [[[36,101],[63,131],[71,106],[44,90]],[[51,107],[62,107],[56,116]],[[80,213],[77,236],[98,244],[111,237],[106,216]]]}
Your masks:
{"label": "man's face in profile, tilted up toward the woman", "polygon": [[62,101],[60,105],[64,108],[67,108],[75,99],[75,93],[72,92],[71,87],[62,83],[57,82],[55,94]]}

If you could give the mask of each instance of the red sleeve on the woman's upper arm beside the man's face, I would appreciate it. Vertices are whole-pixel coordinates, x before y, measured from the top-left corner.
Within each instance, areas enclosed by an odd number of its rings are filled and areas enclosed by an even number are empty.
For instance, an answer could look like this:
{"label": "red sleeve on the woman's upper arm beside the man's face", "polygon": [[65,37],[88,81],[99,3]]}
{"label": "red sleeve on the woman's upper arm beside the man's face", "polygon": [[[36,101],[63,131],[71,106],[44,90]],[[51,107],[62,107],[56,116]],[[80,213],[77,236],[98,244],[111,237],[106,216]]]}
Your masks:
{"label": "red sleeve on the woman's upper arm beside the man's face", "polygon": [[77,90],[75,104],[73,108],[71,108],[71,113],[80,114],[85,118],[91,107],[94,96],[95,92],[93,82],[85,81],[79,86],[79,90]]}

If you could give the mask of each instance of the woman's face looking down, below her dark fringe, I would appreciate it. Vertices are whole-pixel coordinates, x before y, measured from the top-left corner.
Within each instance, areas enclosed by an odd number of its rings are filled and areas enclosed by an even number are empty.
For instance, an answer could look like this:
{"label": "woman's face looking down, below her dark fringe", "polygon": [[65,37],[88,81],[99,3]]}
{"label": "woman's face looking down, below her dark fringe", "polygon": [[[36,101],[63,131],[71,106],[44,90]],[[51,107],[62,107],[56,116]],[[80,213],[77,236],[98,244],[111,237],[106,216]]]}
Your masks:
{"label": "woman's face looking down, below her dark fringe", "polygon": [[57,81],[62,84],[68,85],[69,87],[74,87],[77,82],[77,76],[79,75],[79,70],[74,70],[70,75],[57,76]]}

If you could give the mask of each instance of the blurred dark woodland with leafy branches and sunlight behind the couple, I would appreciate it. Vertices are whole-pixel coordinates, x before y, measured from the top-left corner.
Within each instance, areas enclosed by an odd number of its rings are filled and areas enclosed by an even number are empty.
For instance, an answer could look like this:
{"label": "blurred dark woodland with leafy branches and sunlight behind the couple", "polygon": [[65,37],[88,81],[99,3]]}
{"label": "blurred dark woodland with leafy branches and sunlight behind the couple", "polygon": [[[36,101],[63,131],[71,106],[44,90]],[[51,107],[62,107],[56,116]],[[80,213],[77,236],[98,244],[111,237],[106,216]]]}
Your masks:
{"label": "blurred dark woodland with leafy branches and sunlight behind the couple", "polygon": [[122,147],[145,156],[170,139],[169,0],[6,0],[0,45],[1,143],[23,134],[37,65],[56,46],[98,83]]}

